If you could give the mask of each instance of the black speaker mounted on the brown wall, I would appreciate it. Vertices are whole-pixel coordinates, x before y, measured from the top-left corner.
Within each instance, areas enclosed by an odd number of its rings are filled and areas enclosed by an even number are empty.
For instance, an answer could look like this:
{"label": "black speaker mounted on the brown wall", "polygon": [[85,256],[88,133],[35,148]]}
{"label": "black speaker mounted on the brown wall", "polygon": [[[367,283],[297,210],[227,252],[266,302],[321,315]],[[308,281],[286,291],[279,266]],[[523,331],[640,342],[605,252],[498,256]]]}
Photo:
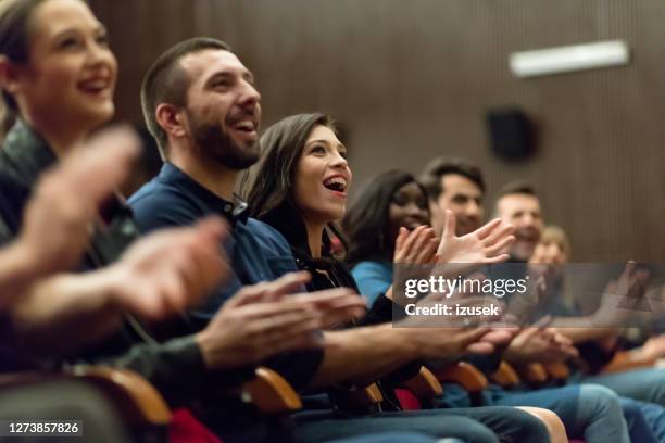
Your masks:
{"label": "black speaker mounted on the brown wall", "polygon": [[517,107],[490,110],[486,114],[492,151],[505,160],[526,160],[536,152],[535,128]]}

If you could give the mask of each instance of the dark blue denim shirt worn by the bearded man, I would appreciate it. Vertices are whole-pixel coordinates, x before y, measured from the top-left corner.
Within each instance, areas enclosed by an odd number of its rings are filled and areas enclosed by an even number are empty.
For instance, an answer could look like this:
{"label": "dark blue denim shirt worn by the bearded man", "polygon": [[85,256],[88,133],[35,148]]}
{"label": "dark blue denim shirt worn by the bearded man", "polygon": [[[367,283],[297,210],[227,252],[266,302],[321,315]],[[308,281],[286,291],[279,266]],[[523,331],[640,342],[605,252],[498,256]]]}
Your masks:
{"label": "dark blue denim shirt worn by the bearded man", "polygon": [[[289,243],[271,226],[249,218],[244,202],[219,198],[171,163],[165,163],[155,178],[131,195],[129,205],[142,232],[192,225],[208,215],[219,215],[231,227],[224,244],[231,275],[204,306],[178,319],[171,331],[165,331],[167,334],[204,328],[243,284],[275,280],[298,270]],[[322,362],[323,351],[311,350],[280,354],[262,364],[299,389],[308,384]]]}

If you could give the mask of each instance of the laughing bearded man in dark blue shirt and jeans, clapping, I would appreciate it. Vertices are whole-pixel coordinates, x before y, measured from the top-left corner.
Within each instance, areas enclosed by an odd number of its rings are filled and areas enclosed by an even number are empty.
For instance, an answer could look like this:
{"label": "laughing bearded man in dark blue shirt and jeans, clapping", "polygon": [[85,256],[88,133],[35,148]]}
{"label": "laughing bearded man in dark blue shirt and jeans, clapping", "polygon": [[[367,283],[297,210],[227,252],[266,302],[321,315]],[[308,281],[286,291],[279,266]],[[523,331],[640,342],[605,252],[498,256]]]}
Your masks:
{"label": "laughing bearded man in dark blue shirt and jeans, clapping", "polygon": [[[234,195],[239,174],[259,159],[260,99],[252,74],[225,43],[212,39],[176,45],[155,62],[143,81],[143,114],[167,163],[129,201],[140,229],[187,225],[210,213],[222,214],[233,227],[226,249],[235,276],[230,283],[219,288],[211,303],[191,312],[179,327],[195,330],[203,327],[240,284],[271,280],[296,269],[286,240],[267,225],[247,218],[243,203]],[[432,338],[430,330],[393,329],[391,325],[325,332],[324,352],[283,354],[266,364],[298,388],[325,389],[337,382],[366,384],[419,357],[463,353],[482,340],[486,332],[460,330],[446,338],[442,334]],[[491,339],[485,344],[491,346]],[[202,353],[205,354],[204,346]],[[225,430],[219,429],[217,417],[200,413],[224,438]],[[331,419],[328,412],[321,413],[321,419]],[[331,426],[312,425],[310,417],[296,427],[296,433],[305,441],[319,441],[376,429],[399,429],[465,441],[493,441],[491,431],[461,416],[481,413],[480,409],[388,413],[374,418],[337,420]],[[511,420],[498,425],[502,420],[495,418],[501,414],[511,416]],[[516,409],[493,408],[485,417],[497,431],[512,438],[548,440],[538,420]]]}

